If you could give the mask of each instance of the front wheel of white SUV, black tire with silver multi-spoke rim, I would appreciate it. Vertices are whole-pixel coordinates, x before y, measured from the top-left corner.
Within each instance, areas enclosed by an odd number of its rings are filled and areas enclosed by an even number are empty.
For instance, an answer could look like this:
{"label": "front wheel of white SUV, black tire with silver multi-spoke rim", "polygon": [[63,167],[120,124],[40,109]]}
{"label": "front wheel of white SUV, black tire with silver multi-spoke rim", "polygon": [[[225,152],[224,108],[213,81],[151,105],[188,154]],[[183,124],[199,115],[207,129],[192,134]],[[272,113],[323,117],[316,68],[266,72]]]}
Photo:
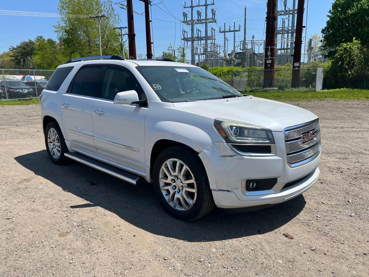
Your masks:
{"label": "front wheel of white SUV, black tire with silver multi-spoke rim", "polygon": [[153,178],[161,205],[178,219],[199,219],[215,206],[204,166],[192,150],[164,150],[155,161]]}

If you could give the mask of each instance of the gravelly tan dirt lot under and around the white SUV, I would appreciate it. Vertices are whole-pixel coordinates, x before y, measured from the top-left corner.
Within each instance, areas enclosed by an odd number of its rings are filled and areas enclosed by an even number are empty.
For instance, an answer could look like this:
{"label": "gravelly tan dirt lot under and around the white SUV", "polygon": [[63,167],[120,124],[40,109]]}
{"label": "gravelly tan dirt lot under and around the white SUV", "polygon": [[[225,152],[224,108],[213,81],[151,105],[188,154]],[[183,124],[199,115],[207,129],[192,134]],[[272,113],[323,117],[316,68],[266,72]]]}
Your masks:
{"label": "gravelly tan dirt lot under and around the white SUV", "polygon": [[1,106],[0,276],[369,276],[368,103],[294,103],[321,120],[319,181],[195,222],[168,216],[149,185],[52,164],[39,107]]}

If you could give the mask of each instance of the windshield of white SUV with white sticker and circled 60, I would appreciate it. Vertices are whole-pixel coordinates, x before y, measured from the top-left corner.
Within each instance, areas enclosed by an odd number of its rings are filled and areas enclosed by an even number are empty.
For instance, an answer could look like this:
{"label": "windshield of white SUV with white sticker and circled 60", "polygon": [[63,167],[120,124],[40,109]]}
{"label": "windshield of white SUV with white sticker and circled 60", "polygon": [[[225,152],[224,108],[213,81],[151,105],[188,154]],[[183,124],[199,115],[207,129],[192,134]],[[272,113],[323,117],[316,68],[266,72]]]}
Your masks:
{"label": "windshield of white SUV with white sticker and circled 60", "polygon": [[184,102],[242,96],[221,79],[202,68],[137,66],[163,102]]}

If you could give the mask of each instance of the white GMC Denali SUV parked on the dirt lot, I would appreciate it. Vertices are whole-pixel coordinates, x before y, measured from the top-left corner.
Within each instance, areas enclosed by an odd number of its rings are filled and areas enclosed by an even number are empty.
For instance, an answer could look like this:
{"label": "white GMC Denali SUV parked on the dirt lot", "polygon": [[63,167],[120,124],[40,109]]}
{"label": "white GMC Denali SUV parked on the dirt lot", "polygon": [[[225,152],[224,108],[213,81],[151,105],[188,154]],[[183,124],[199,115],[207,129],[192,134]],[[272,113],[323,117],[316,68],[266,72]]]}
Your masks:
{"label": "white GMC Denali SUV parked on the dirt lot", "polygon": [[318,179],[315,114],[242,95],[211,73],[169,59],[86,57],[58,66],[40,96],[50,159],[132,184],[153,183],[184,220],[217,206],[266,208]]}

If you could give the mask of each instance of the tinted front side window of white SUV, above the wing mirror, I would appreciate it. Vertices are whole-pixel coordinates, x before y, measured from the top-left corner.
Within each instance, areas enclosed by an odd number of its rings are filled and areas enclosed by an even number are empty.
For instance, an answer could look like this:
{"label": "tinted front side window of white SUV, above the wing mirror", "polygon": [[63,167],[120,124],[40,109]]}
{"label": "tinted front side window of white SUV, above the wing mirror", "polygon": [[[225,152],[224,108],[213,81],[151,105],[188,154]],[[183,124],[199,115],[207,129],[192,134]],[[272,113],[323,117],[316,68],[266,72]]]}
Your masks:
{"label": "tinted front side window of white SUV, above the wing mirror", "polygon": [[142,98],[141,95],[144,95],[144,93],[141,92],[141,87],[137,83],[136,79],[130,72],[128,72],[127,69],[120,66],[108,66],[104,78],[101,98],[114,100],[115,95],[117,95],[118,92],[127,90],[135,90],[138,94],[138,99],[140,100]]}

